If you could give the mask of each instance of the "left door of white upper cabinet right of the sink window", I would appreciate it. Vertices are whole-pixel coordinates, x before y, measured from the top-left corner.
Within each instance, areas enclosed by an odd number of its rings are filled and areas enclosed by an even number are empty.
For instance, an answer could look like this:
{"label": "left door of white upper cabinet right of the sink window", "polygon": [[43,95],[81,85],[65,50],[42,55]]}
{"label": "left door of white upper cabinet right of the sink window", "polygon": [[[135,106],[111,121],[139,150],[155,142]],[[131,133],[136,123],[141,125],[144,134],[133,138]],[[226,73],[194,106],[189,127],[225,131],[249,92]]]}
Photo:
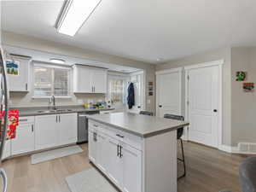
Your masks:
{"label": "left door of white upper cabinet right of the sink window", "polygon": [[74,66],[73,71],[73,87],[77,93],[91,93],[92,70],[88,67]]}

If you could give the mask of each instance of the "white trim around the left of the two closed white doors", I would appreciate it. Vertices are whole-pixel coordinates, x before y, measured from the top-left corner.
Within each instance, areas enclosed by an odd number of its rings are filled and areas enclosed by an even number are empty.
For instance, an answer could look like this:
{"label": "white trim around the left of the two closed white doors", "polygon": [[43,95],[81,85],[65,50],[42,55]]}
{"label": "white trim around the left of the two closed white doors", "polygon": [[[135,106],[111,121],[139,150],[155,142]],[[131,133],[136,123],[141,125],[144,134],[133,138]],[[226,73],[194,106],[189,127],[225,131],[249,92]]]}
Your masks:
{"label": "white trim around the left of the two closed white doors", "polygon": [[155,110],[156,110],[156,116],[159,116],[159,76],[162,74],[168,74],[168,73],[178,73],[178,77],[179,77],[179,114],[181,115],[182,113],[182,71],[183,71],[183,67],[177,67],[177,68],[172,68],[172,69],[166,69],[166,70],[162,70],[162,71],[157,71],[155,72],[156,74],[156,88],[155,88],[155,92],[156,92],[156,96],[155,96]]}

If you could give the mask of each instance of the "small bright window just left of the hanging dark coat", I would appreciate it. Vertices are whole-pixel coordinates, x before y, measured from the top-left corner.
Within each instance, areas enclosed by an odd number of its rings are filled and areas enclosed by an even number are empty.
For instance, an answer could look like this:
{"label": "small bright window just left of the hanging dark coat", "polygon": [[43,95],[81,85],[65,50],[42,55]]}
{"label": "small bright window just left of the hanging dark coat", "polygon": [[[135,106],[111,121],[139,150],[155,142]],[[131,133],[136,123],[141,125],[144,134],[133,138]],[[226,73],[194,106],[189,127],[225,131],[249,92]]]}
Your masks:
{"label": "small bright window just left of the hanging dark coat", "polygon": [[113,104],[125,103],[126,80],[119,77],[108,77],[108,98]]}

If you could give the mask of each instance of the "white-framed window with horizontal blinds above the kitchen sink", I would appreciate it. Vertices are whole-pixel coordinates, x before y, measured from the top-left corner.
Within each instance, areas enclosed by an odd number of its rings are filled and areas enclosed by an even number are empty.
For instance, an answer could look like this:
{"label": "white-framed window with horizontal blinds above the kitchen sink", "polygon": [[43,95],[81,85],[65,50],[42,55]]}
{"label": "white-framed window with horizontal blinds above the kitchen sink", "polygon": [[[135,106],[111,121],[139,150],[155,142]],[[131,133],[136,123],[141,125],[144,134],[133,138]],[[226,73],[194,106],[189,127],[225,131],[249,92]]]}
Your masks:
{"label": "white-framed window with horizontal blinds above the kitchen sink", "polygon": [[70,68],[34,65],[34,96],[69,96]]}

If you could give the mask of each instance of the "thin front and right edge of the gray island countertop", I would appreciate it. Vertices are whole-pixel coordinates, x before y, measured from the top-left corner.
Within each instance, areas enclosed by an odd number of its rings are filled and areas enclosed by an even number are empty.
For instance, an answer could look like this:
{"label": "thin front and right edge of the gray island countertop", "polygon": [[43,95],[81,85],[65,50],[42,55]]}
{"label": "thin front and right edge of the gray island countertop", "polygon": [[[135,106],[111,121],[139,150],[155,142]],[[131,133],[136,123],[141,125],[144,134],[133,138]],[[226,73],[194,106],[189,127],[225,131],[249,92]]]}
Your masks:
{"label": "thin front and right edge of the gray island countertop", "polygon": [[127,130],[124,127],[121,127],[121,126],[118,126],[118,125],[113,125],[113,124],[109,124],[108,122],[105,122],[105,121],[102,121],[102,120],[99,120],[99,119],[94,119],[93,117],[90,117],[90,116],[88,117],[88,119],[94,120],[94,121],[96,121],[98,123],[102,123],[104,125],[112,126],[112,127],[116,128],[118,130],[131,133],[131,134],[136,135],[138,137],[145,137],[145,138],[160,135],[160,134],[163,134],[163,133],[166,133],[166,132],[169,132],[169,131],[175,131],[175,130],[181,128],[181,127],[189,125],[189,123],[186,123],[185,125],[177,125],[177,126],[174,126],[174,127],[163,129],[163,130],[157,130],[157,131],[152,131],[152,132],[149,132],[149,133],[141,134],[141,133],[136,132],[136,131]]}

